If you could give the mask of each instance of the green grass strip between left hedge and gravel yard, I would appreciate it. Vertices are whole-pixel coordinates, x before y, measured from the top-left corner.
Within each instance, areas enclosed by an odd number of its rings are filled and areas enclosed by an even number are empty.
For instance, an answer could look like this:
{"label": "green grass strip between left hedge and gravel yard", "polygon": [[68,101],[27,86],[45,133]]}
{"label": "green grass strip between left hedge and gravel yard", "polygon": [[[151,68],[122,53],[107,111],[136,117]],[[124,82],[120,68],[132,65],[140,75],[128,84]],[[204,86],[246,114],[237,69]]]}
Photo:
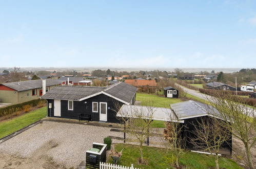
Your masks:
{"label": "green grass strip between left hedge and gravel yard", "polygon": [[46,107],[0,122],[0,138],[7,136],[46,116]]}

